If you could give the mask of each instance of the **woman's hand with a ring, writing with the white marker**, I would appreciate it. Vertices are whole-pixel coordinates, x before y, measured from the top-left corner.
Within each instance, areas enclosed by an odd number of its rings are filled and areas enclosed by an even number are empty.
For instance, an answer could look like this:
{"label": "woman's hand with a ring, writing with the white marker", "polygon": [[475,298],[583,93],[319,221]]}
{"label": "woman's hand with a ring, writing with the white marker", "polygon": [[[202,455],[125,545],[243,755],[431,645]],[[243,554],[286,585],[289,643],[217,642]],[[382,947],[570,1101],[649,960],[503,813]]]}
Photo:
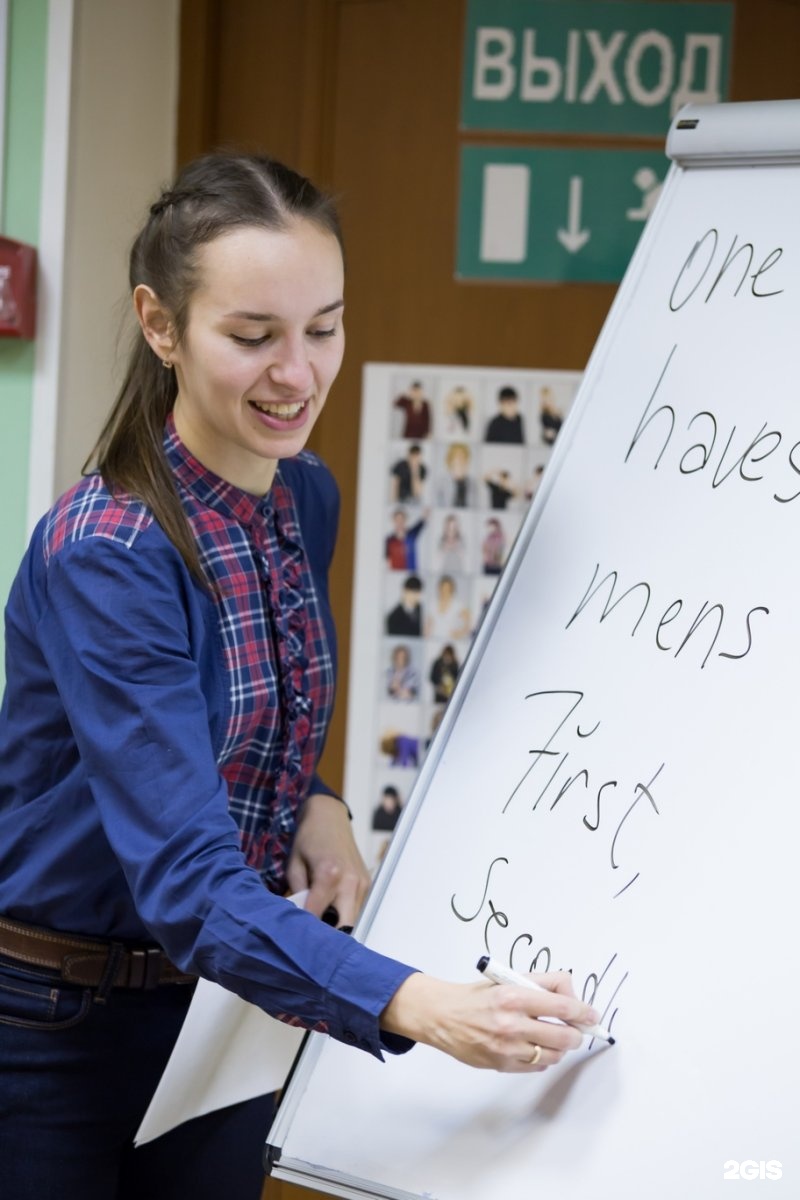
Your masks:
{"label": "woman's hand with a ring, writing with the white marker", "polygon": [[565,972],[533,978],[547,990],[529,991],[488,980],[446,983],[413,974],[384,1009],[380,1027],[423,1042],[470,1067],[543,1070],[583,1040],[578,1030],[557,1022],[595,1025],[599,1016],[575,996],[572,979]]}

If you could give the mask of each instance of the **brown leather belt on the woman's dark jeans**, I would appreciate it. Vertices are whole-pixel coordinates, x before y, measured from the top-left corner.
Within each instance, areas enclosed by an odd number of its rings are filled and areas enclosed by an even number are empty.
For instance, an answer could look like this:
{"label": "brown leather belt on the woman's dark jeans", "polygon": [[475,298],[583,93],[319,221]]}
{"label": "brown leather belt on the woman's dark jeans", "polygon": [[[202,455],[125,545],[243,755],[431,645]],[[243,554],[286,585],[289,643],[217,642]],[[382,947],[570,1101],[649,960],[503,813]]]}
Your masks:
{"label": "brown leather belt on the woman's dark jeans", "polygon": [[58,971],[67,983],[85,988],[160,988],[193,983],[157,946],[101,942],[59,934],[0,917],[0,954],[34,967]]}

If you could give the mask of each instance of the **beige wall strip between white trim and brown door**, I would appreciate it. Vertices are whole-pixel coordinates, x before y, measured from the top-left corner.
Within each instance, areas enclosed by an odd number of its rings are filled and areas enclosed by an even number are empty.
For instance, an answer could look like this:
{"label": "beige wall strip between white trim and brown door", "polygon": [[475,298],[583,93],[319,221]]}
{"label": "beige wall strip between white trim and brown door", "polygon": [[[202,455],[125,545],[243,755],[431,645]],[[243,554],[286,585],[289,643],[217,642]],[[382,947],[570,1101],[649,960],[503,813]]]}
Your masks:
{"label": "beige wall strip between white trim and brown door", "polygon": [[121,377],[127,253],[175,167],[179,16],[180,0],[74,0],[54,496],[78,478]]}

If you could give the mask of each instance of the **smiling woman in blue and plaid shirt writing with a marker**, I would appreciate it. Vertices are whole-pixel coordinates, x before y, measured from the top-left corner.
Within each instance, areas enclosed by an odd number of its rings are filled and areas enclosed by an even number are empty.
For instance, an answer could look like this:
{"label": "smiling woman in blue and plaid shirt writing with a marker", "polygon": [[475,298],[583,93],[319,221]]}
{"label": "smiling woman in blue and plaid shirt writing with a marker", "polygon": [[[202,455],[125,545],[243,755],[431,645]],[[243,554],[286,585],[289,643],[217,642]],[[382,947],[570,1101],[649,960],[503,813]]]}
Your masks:
{"label": "smiling woman in blue and plaid shirt writing with a marker", "polygon": [[[152,205],[96,470],[40,522],[6,614],[0,1157],[10,1200],[260,1195],[269,1099],[132,1150],[194,976],[380,1056],[534,1070],[587,1019],[458,985],[349,925],[368,878],[315,769],[337,493],[305,445],[342,360],[329,200],[209,156]],[[282,898],[308,888],[307,911]],[[517,995],[517,991],[521,995]],[[536,1060],[536,1062],[534,1062]]]}

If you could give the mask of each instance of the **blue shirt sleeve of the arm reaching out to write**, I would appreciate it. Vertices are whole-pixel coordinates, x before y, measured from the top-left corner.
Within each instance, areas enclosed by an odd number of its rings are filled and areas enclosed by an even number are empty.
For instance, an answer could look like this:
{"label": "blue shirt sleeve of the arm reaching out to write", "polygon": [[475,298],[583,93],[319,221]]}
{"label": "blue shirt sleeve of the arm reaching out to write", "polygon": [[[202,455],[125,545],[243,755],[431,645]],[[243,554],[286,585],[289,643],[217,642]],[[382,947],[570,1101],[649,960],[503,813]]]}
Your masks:
{"label": "blue shirt sleeve of the arm reaching out to write", "polygon": [[[192,583],[156,526],[56,553],[35,614],[104,836],[136,910],[185,971],[380,1055],[413,968],[269,893],[228,812],[198,671]],[[76,862],[74,881],[97,864]]]}

